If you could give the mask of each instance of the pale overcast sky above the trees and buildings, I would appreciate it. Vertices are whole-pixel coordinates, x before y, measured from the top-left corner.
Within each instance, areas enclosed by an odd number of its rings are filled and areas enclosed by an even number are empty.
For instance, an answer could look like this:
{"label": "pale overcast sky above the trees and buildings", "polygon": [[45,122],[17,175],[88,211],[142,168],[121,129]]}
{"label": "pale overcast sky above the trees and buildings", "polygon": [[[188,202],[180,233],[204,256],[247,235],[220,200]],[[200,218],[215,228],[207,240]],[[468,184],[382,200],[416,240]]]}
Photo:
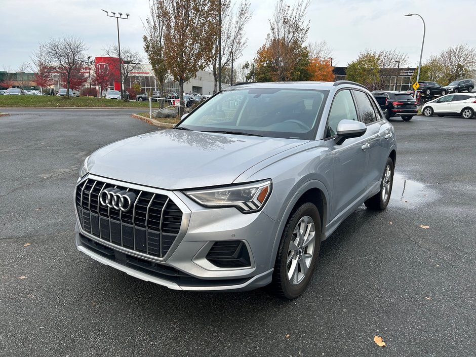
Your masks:
{"label": "pale overcast sky above the trees and buildings", "polygon": [[[236,62],[252,60],[264,44],[274,4],[275,0],[251,0],[248,46]],[[101,9],[130,14],[128,20],[120,20],[121,47],[143,53],[147,0],[0,0],[0,70],[16,70],[20,63],[30,61],[38,43],[62,35],[83,38],[88,55],[103,55],[104,47],[117,43],[117,29],[116,21]],[[423,24],[417,16],[404,17],[409,12],[420,14],[426,22],[423,61],[460,43],[476,47],[476,0],[311,0],[309,41],[327,41],[333,49],[334,66],[346,66],[368,48],[407,53],[408,65],[415,67]]]}

